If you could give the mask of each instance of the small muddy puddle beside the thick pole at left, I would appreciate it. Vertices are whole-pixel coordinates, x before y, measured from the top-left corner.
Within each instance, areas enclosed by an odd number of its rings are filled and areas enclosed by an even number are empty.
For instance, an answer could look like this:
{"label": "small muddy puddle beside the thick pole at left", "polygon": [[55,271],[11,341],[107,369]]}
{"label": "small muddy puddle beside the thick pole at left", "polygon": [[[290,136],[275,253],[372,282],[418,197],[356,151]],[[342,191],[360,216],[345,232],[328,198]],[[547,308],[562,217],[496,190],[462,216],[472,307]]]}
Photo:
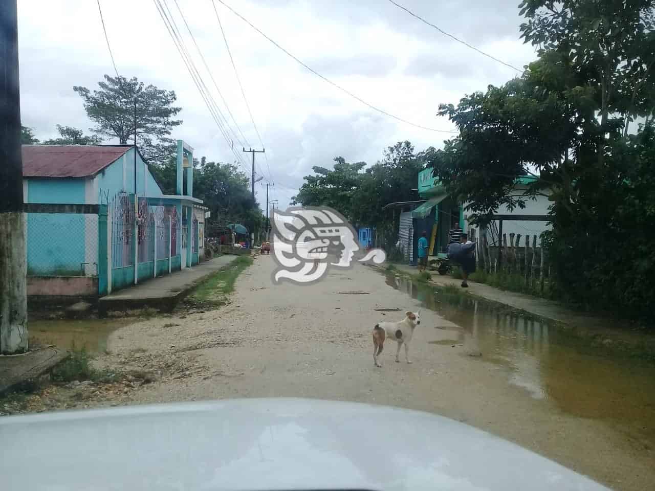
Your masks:
{"label": "small muddy puddle beside the thick pole at left", "polygon": [[89,353],[103,353],[107,349],[109,335],[132,322],[134,319],[29,321],[29,344],[56,344],[60,348],[84,348]]}

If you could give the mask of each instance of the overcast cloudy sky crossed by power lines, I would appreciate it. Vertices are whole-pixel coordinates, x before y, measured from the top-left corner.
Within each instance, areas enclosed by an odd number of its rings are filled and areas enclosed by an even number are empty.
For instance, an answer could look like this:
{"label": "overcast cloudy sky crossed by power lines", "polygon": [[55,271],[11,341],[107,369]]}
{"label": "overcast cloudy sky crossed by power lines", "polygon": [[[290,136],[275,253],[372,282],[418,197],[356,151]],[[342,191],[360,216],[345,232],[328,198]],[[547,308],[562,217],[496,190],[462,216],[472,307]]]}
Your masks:
{"label": "overcast cloudy sky crossed by power lines", "polygon": [[[457,103],[464,94],[502,84],[515,75],[388,0],[224,1],[324,77],[421,126],[453,130],[447,119],[436,116],[440,103]],[[508,64],[522,67],[534,58],[533,48],[518,39],[517,0],[397,1]],[[175,14],[205,84],[229,118],[175,0],[165,3]],[[154,1],[100,0],[100,4],[119,73],[178,95],[184,122],[173,137],[194,147],[196,157],[234,162],[231,143],[204,104]],[[178,4],[248,140],[246,145],[259,147],[212,0],[178,0]],[[408,139],[421,150],[441,147],[449,136],[376,113],[309,73],[219,1],[215,5],[266,147],[267,158],[256,156],[256,171],[264,176],[262,182],[274,182],[271,199],[278,199],[280,207],[288,204],[312,166],[331,166],[335,156],[372,164],[396,141]],[[90,128],[73,85],[94,88],[105,73],[113,73],[96,1],[18,0],[18,31],[23,124],[41,139],[56,136],[55,124]],[[240,150],[236,139],[232,143]],[[250,154],[240,156],[250,168]],[[257,198],[265,201],[265,188],[260,187]]]}

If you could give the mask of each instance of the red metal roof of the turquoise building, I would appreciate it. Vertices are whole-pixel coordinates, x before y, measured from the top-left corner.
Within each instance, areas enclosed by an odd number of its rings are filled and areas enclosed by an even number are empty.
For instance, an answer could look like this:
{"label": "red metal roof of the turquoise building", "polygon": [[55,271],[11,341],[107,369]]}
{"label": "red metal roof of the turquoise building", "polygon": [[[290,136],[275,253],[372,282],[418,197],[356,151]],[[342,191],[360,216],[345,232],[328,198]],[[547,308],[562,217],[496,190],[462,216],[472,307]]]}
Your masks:
{"label": "red metal roof of the turquoise building", "polygon": [[88,177],[126,153],[130,145],[23,145],[23,177]]}

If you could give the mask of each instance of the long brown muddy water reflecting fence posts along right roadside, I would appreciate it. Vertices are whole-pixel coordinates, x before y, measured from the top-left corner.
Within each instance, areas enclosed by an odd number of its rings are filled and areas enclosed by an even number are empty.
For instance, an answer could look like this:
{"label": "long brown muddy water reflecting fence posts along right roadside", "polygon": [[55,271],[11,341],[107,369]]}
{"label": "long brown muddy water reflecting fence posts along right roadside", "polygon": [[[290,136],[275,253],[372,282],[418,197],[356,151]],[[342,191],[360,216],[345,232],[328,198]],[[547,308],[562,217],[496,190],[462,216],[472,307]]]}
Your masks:
{"label": "long brown muddy water reflecting fence posts along right roadside", "polygon": [[526,318],[495,304],[448,295],[389,276],[444,319],[435,350],[460,350],[471,363],[504,367],[507,383],[544,405],[581,418],[603,420],[644,448],[655,447],[655,363],[591,346],[553,323]]}

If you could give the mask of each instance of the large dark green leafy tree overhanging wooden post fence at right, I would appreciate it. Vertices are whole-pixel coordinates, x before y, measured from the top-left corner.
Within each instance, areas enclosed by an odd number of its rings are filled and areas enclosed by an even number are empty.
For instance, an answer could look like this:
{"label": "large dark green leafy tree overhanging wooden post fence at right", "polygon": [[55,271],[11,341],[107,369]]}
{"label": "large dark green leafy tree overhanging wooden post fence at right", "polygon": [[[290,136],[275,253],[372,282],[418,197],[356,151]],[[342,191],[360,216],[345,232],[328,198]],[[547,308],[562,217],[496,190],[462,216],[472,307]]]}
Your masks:
{"label": "large dark green leafy tree overhanging wooden post fence at right", "polygon": [[[654,7],[523,1],[522,37],[538,60],[503,86],[441,105],[460,134],[430,161],[474,222],[547,192],[548,295],[629,317],[648,316],[655,300]],[[636,117],[645,124],[629,136]],[[538,179],[516,196],[515,179],[531,173]],[[515,291],[523,281],[487,280]]]}

